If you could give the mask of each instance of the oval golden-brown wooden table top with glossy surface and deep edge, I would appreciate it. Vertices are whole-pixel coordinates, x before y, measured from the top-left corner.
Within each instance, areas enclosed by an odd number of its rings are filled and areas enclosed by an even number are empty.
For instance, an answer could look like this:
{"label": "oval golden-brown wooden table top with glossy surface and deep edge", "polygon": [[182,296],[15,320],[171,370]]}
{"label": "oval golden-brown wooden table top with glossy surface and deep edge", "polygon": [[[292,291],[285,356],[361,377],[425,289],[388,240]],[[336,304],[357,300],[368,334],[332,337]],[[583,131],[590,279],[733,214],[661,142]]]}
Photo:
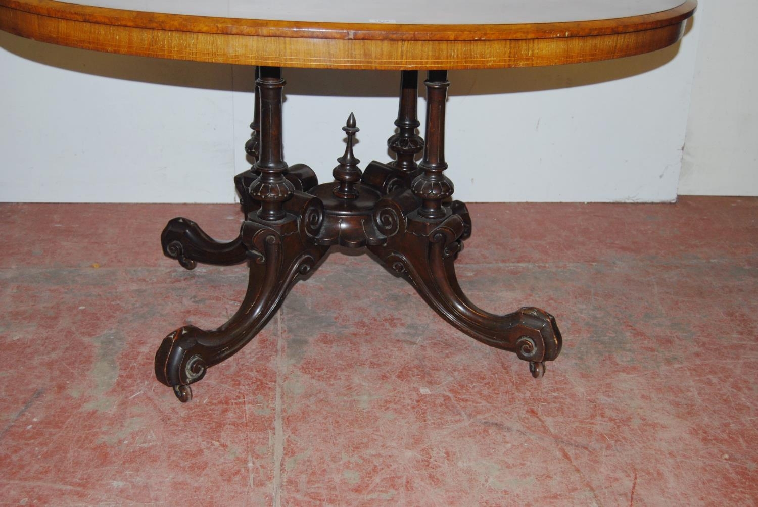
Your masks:
{"label": "oval golden-brown wooden table top with glossy surface and deep edge", "polygon": [[0,0],[0,29],[83,49],[358,69],[597,61],[681,38],[697,0]]}

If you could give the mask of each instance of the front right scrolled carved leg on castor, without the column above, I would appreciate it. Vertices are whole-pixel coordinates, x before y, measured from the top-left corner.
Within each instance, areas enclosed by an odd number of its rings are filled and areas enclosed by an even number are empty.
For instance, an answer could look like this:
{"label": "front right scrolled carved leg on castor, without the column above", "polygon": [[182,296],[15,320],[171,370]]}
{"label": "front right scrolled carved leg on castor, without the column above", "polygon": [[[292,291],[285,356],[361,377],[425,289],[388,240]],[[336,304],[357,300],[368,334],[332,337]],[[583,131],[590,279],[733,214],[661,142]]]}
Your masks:
{"label": "front right scrolled carved leg on castor, without the column above", "polygon": [[541,377],[545,361],[553,361],[561,351],[562,338],[555,318],[533,307],[507,315],[478,308],[463,293],[454,266],[467,229],[465,219],[444,206],[446,218],[431,222],[419,217],[419,202],[411,192],[390,197],[378,202],[374,213],[387,243],[368,249],[393,271],[404,275],[450,324],[482,343],[514,352],[530,362],[534,377]]}

